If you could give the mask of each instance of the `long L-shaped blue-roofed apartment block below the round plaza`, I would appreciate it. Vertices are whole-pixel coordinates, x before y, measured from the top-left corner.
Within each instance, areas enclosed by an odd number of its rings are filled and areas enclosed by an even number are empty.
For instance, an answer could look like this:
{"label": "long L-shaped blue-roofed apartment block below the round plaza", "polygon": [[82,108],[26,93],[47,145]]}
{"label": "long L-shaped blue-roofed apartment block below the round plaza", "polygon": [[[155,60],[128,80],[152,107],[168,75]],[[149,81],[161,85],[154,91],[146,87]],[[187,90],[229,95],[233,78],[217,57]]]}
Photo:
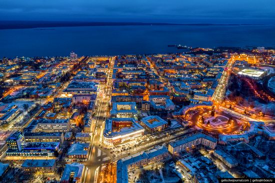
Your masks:
{"label": "long L-shaped blue-roofed apartment block below the round plaza", "polygon": [[197,133],[185,139],[170,142],[168,145],[168,150],[170,153],[175,154],[200,144],[214,149],[217,144],[217,139],[206,134]]}

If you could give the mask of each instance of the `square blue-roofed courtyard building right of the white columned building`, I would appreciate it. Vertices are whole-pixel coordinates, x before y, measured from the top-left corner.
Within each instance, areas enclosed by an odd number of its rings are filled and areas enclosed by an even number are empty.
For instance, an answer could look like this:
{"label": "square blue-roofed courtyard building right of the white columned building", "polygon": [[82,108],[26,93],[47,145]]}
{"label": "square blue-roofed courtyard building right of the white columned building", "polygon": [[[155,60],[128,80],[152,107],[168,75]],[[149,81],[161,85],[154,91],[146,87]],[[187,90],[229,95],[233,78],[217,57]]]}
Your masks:
{"label": "square blue-roofed courtyard building right of the white columned building", "polygon": [[150,132],[161,131],[164,128],[168,127],[168,122],[157,115],[143,117],[140,120],[140,124]]}

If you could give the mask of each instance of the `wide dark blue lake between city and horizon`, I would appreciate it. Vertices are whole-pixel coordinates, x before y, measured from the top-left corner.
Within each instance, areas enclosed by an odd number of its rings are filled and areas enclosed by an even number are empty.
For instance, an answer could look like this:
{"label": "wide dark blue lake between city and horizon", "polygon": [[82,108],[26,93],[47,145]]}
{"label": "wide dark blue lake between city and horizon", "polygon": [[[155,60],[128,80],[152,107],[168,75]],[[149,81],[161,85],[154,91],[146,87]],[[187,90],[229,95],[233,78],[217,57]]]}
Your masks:
{"label": "wide dark blue lake between city and horizon", "polygon": [[118,55],[180,52],[192,47],[275,47],[275,25],[80,26],[0,30],[3,56]]}

